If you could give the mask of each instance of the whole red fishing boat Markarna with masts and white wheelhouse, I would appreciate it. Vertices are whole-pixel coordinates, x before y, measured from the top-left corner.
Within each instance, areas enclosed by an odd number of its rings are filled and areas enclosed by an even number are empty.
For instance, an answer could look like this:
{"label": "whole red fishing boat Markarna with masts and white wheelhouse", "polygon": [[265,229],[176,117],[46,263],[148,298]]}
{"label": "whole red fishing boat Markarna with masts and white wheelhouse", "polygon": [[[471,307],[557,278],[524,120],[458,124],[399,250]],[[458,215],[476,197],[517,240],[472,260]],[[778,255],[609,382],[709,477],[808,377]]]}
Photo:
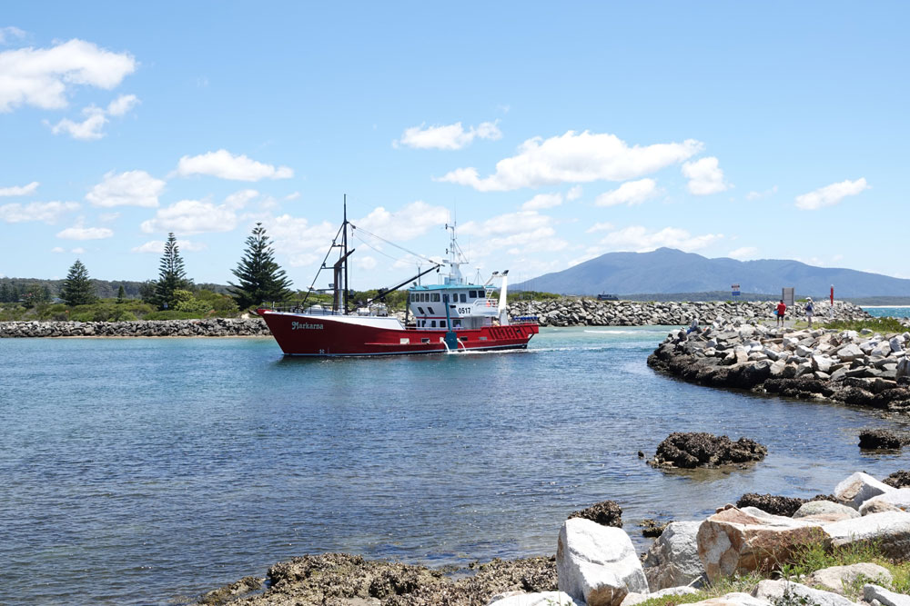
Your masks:
{"label": "whole red fishing boat Markarna with masts and white wheelhouse", "polygon": [[[434,263],[430,269],[397,286],[380,290],[373,299],[350,309],[348,259],[354,250],[348,250],[348,235],[349,230],[357,227],[349,223],[346,205],[344,222],[326,255],[328,260],[332,251],[339,249],[339,259],[332,265],[331,307],[305,308],[303,304],[285,309],[263,307],[257,313],[286,355],[461,353],[526,348],[539,326],[536,317],[509,317],[506,309],[509,272],[494,272],[485,283],[466,282],[460,272],[460,265],[465,262],[456,241],[455,225],[446,228],[451,232],[448,261]],[[448,266],[449,273],[440,276],[440,283],[420,283],[422,276],[433,271],[440,273],[443,266]],[[329,266],[323,262],[321,269]],[[402,322],[389,315],[382,300],[409,283]]]}

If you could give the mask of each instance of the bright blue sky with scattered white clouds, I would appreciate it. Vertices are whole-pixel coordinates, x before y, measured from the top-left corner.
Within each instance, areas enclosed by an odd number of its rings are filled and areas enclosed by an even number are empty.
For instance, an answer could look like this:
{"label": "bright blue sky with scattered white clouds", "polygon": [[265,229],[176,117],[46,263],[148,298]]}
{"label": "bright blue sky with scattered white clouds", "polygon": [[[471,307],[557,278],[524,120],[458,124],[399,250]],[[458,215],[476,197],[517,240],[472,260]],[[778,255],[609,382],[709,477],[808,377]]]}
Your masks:
{"label": "bright blue sky with scattered white clouds", "polygon": [[305,288],[348,194],[355,288],[417,267],[367,232],[440,256],[452,214],[519,280],[659,246],[910,277],[908,13],[7,4],[0,274],[153,279],[175,232],[226,283],[262,222]]}

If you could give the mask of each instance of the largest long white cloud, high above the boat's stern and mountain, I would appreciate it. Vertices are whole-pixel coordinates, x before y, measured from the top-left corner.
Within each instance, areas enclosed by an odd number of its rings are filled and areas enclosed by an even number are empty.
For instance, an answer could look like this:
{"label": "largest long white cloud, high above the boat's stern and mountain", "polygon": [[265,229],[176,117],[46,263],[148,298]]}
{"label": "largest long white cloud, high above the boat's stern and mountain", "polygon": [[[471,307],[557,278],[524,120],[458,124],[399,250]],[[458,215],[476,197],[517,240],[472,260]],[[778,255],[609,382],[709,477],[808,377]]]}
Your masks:
{"label": "largest long white cloud, high above the boat's stern and mountain", "polygon": [[470,185],[480,192],[509,191],[559,183],[625,181],[654,173],[691,158],[703,149],[689,139],[682,144],[630,147],[614,134],[569,131],[550,139],[535,137],[519,153],[496,164],[496,173],[480,178],[476,168],[459,168],[436,179]]}

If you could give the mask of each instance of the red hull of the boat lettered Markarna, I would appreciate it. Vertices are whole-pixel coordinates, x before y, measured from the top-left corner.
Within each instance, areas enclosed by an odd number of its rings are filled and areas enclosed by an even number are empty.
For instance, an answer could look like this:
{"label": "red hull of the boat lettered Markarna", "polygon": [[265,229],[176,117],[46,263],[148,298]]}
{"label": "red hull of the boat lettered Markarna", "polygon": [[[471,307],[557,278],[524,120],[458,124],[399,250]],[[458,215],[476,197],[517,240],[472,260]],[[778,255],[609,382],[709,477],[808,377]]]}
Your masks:
{"label": "red hull of the boat lettered Markarna", "polygon": [[[281,351],[287,355],[390,355],[445,353],[444,330],[394,327],[389,318],[303,315],[259,309]],[[456,329],[459,351],[524,349],[539,332],[537,323]]]}

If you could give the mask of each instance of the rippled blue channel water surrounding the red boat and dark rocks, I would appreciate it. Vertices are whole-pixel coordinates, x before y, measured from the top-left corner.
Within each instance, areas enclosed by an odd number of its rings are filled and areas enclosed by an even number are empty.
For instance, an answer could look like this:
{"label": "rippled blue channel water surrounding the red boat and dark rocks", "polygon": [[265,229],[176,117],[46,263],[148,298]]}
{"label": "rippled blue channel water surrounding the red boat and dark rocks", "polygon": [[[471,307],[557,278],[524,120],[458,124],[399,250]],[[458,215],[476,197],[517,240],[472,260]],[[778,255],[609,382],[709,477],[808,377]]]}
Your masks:
{"label": "rippled blue channel water surrounding the red boat and dark rocks", "polygon": [[[314,361],[270,339],[0,340],[0,602],[168,603],[294,555],[459,563],[555,551],[613,499],[693,519],[743,492],[830,492],[872,412],[652,373],[667,329],[548,329],[519,353]],[[667,475],[674,431],[769,445]]]}

